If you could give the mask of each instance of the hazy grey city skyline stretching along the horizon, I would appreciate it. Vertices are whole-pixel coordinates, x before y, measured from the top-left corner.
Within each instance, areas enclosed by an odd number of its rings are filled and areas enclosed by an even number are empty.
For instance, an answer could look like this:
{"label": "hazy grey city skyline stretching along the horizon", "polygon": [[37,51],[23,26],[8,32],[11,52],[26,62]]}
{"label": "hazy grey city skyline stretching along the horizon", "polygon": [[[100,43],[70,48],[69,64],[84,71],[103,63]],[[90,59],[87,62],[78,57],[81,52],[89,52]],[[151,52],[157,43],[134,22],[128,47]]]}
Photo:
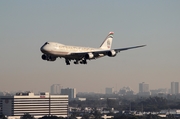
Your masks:
{"label": "hazy grey city skyline stretching along the horizon", "polygon": [[[103,89],[101,89],[100,91],[78,91],[76,90],[76,88],[74,87],[63,87],[63,85],[61,84],[51,84],[50,85],[50,89],[48,91],[43,91],[43,90],[39,90],[39,91],[33,91],[33,90],[14,90],[14,91],[10,91],[10,90],[6,90],[3,91],[1,90],[0,92],[7,92],[7,93],[16,93],[16,92],[34,92],[36,94],[41,93],[41,92],[49,92],[50,94],[62,94],[62,90],[71,90],[71,89],[75,89],[75,94],[76,93],[99,93],[99,94],[117,94],[120,93],[121,90],[126,90],[126,91],[132,91],[134,94],[143,94],[143,93],[147,93],[147,95],[154,95],[157,93],[165,93],[165,94],[179,94],[180,90],[179,90],[179,82],[169,82],[169,87],[157,87],[157,88],[151,88],[151,86],[149,86],[148,83],[142,82],[142,83],[138,83],[137,87],[138,87],[138,91],[133,90],[131,87],[129,86],[123,86],[123,87],[119,87],[119,88],[115,88],[115,87],[104,87]],[[71,92],[71,91],[70,91]],[[0,94],[2,95],[2,94]],[[143,94],[144,95],[144,94]]]}

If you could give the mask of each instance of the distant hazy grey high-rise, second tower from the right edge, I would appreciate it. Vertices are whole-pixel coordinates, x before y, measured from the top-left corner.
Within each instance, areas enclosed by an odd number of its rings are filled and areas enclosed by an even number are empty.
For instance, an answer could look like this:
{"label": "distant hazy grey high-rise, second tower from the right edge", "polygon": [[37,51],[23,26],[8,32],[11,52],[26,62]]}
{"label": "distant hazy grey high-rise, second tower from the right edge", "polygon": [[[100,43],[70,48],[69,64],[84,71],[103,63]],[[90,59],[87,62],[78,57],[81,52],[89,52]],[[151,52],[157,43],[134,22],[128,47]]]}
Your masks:
{"label": "distant hazy grey high-rise, second tower from the right edge", "polygon": [[144,82],[139,83],[139,95],[148,96],[149,92],[149,84],[145,84]]}

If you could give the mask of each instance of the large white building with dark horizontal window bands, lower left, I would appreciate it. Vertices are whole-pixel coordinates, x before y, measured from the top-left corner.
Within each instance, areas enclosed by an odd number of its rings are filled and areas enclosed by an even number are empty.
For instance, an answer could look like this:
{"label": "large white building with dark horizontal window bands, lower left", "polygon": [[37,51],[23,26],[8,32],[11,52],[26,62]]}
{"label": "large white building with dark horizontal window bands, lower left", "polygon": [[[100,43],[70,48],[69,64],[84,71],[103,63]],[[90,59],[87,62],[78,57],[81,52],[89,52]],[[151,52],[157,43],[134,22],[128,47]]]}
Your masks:
{"label": "large white building with dark horizontal window bands, lower left", "polygon": [[0,115],[8,118],[19,119],[24,113],[29,113],[35,118],[45,115],[67,117],[68,95],[50,95],[31,92],[16,93],[13,96],[0,96]]}

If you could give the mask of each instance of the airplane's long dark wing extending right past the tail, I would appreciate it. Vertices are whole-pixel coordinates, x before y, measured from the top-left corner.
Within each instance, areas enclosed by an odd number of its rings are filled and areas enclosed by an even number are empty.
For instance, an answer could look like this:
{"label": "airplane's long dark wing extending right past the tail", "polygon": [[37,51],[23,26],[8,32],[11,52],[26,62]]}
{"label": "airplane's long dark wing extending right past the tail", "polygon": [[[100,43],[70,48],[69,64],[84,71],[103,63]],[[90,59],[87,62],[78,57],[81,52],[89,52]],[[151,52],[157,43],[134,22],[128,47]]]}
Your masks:
{"label": "airplane's long dark wing extending right past the tail", "polygon": [[99,50],[99,51],[92,51],[92,52],[81,52],[81,53],[71,53],[71,55],[79,56],[79,58],[84,58],[88,53],[92,53],[94,55],[94,58],[98,58],[101,55],[108,55],[110,51],[115,51],[117,54],[120,51],[144,47],[146,45],[140,45],[140,46],[134,46],[134,47],[127,47],[127,48],[118,48],[118,49],[111,49],[111,50]]}

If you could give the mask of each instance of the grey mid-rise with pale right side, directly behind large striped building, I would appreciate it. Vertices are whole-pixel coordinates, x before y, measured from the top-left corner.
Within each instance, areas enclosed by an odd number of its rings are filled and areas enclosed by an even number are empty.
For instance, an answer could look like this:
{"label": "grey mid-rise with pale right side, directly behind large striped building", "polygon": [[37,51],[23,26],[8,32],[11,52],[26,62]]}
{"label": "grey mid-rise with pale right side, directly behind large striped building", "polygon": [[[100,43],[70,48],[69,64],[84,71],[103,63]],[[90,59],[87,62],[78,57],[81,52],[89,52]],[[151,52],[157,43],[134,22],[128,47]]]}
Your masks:
{"label": "grey mid-rise with pale right side, directly behind large striped building", "polygon": [[76,98],[76,89],[75,88],[61,89],[61,94],[62,95],[68,95],[69,100],[72,100],[72,99]]}

